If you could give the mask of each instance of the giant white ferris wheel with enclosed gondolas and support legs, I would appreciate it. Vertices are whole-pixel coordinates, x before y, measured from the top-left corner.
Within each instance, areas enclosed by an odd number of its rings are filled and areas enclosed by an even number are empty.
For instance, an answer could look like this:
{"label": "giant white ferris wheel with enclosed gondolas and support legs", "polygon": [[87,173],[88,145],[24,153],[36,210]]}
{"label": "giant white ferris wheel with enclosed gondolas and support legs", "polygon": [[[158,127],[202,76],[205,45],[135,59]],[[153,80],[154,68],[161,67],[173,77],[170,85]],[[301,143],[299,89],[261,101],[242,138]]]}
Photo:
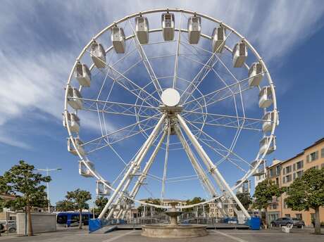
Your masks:
{"label": "giant white ferris wheel with enclosed gondolas and support legs", "polygon": [[117,20],[82,49],[63,125],[79,173],[110,196],[99,218],[117,205],[118,219],[135,202],[152,205],[140,191],[168,208],[167,191],[180,198],[193,182],[204,203],[224,213],[223,203],[237,203],[249,217],[235,190],[264,174],[278,111],[270,73],[247,39],[208,15],[165,8]]}

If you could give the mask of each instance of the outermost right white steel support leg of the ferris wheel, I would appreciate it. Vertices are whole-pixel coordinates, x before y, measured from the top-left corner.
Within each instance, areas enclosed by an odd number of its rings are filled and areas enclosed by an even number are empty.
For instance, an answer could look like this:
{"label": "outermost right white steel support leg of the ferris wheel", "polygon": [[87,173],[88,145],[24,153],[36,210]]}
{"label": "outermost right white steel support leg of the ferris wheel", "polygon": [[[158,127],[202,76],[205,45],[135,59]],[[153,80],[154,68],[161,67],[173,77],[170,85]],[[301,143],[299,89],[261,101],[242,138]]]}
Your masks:
{"label": "outermost right white steel support leg of the ferris wheel", "polygon": [[192,134],[191,130],[189,129],[185,120],[181,117],[180,114],[177,114],[177,120],[179,120],[180,126],[182,127],[182,129],[185,130],[185,133],[189,137],[190,141],[192,141],[192,144],[194,145],[194,148],[197,150],[197,153],[199,153],[201,159],[205,160],[205,162],[208,164],[208,168],[211,171],[211,174],[213,174],[213,176],[218,178],[220,184],[224,186],[224,188],[229,193],[229,195],[235,200],[239,208],[242,210],[242,212],[244,212],[244,215],[247,218],[250,218],[251,216],[249,215],[249,212],[247,212],[247,210],[244,208],[242,203],[239,201],[235,193],[232,191],[228,183],[225,181],[223,176],[218,171],[216,165],[211,161],[211,158],[208,157],[207,153],[204,151],[204,148],[202,148],[202,146],[199,144],[196,137],[194,136],[194,134]]}

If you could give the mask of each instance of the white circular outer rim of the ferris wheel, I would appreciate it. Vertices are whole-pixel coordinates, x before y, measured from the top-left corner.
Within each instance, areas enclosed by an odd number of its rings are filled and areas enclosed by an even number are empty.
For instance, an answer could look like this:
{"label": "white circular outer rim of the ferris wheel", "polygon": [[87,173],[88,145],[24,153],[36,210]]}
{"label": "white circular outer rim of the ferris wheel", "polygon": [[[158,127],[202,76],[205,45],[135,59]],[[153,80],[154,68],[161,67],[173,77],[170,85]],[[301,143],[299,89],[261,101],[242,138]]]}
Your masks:
{"label": "white circular outer rim of the ferris wheel", "polygon": [[[256,56],[256,58],[261,63],[262,67],[264,68],[264,72],[266,74],[266,77],[268,79],[268,83],[270,84],[270,89],[271,89],[272,94],[273,94],[273,110],[275,110],[274,120],[275,120],[275,122],[278,120],[278,116],[277,116],[278,115],[278,113],[277,113],[277,101],[276,101],[276,96],[275,96],[275,87],[274,87],[273,81],[272,81],[272,79],[270,77],[270,72],[268,71],[268,68],[266,67],[266,64],[264,63],[263,59],[258,54],[258,52],[256,51],[256,49],[254,49],[254,47],[247,41],[247,39],[245,39],[242,36],[242,34],[239,34],[239,32],[237,32],[234,28],[232,28],[229,25],[223,23],[222,21],[216,20],[216,18],[211,18],[208,15],[204,15],[204,14],[197,13],[197,12],[194,12],[194,11],[185,10],[185,9],[182,9],[182,8],[158,8],[158,9],[151,9],[151,10],[148,10],[148,11],[141,11],[141,12],[133,13],[132,15],[127,15],[126,17],[121,18],[120,20],[114,22],[113,24],[108,25],[106,28],[104,28],[104,30],[101,30],[101,32],[99,32],[98,34],[96,34],[96,36],[84,47],[84,49],[82,49],[80,55],[75,60],[75,63],[73,65],[73,68],[72,68],[72,70],[70,72],[70,75],[68,77],[68,82],[66,84],[65,103],[64,103],[64,113],[65,114],[68,113],[68,103],[67,103],[68,87],[70,87],[70,82],[71,82],[71,80],[73,78],[73,72],[75,70],[75,66],[77,65],[78,61],[82,58],[82,56],[87,52],[87,49],[95,41],[95,39],[99,38],[102,34],[104,34],[105,32],[107,32],[108,30],[110,30],[111,27],[113,27],[114,25],[116,25],[118,23],[123,23],[124,21],[129,20],[130,18],[135,18],[135,17],[137,17],[139,15],[146,15],[146,14],[149,14],[149,13],[161,13],[161,12],[166,12],[166,11],[168,11],[168,12],[188,13],[188,14],[193,14],[193,15],[200,16],[202,18],[206,18],[207,20],[211,20],[212,22],[215,22],[215,23],[218,23],[219,25],[222,25],[223,27],[225,27],[226,29],[234,32],[235,34],[237,34],[238,37],[240,37],[241,39],[243,39],[244,42],[249,47],[249,49],[254,54],[254,56]],[[175,30],[176,31],[179,31],[179,29],[177,30],[177,28],[175,28]],[[158,31],[161,31],[161,29],[156,29],[154,32],[158,32]],[[151,30],[150,30],[150,32],[151,32]],[[180,32],[187,32],[187,31],[185,29],[183,29],[183,31],[182,31],[182,29],[180,29]],[[206,34],[201,34],[201,37],[204,37],[204,35],[206,35]],[[205,37],[207,37],[207,36],[205,36]],[[109,47],[107,49],[107,51],[110,51],[111,49],[112,49],[112,46]],[[93,65],[92,65],[91,68],[93,68]],[[68,121],[67,119],[68,118],[67,118],[67,115],[66,115],[66,122]],[[249,172],[247,172],[246,174],[244,174],[244,176],[242,177],[242,179],[240,179],[241,181],[238,184],[236,184],[235,186],[232,186],[231,189],[235,190],[235,189],[237,189],[237,187],[241,186],[244,183],[244,181],[246,181],[247,179],[249,179],[249,177],[251,177],[251,175],[258,169],[258,166],[262,163],[264,157],[266,156],[266,152],[268,151],[268,148],[270,146],[270,143],[271,143],[271,141],[274,138],[274,132],[275,132],[275,127],[276,127],[275,122],[272,123],[271,132],[270,132],[270,135],[269,135],[270,136],[270,142],[268,144],[268,147],[266,148],[266,151],[263,152],[262,154],[258,153],[256,155],[256,160],[258,160],[257,165],[255,165],[255,167],[253,169],[249,170]],[[73,139],[74,138],[73,132],[70,131],[70,127],[69,126],[67,126],[67,129],[68,129],[68,136],[72,139],[72,144],[73,144],[73,146],[75,146],[75,151],[77,152],[77,155],[79,156],[80,160],[86,161],[87,160],[87,157],[84,157],[82,154],[80,154],[80,151],[78,151],[78,149],[76,148],[77,146],[76,146],[75,141]],[[102,182],[104,182],[106,184],[106,181],[99,174],[97,174],[96,172],[94,172],[91,167],[88,167],[88,168],[92,172],[92,174],[94,174],[94,177],[96,177],[98,180],[100,180],[100,181],[102,181]],[[112,186],[110,186],[108,184],[106,184],[106,186],[108,186],[108,188],[110,188],[112,191],[115,191],[115,189]],[[135,198],[130,198],[130,199],[133,200],[133,201],[135,201],[135,202],[137,202],[137,203],[145,204],[144,202],[142,202],[140,200],[137,200]],[[215,199],[216,198],[213,198],[211,200],[215,200]],[[196,204],[196,205],[199,205],[199,204]],[[151,205],[151,204],[148,204],[148,205]],[[191,205],[190,207],[194,207],[196,205]],[[156,206],[158,208],[168,208],[168,206],[158,206],[158,205],[156,205]],[[178,208],[189,208],[189,207],[188,206],[179,206]]]}

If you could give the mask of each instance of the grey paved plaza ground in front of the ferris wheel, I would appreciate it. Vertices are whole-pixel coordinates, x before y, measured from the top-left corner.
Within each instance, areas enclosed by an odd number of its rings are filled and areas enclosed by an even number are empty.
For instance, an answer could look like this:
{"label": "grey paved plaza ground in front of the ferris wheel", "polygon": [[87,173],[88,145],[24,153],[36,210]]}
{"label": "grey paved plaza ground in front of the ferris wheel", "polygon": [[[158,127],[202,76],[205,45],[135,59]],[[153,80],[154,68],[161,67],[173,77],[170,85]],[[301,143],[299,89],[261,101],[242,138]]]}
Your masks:
{"label": "grey paved plaza ground in front of the ferris wheel", "polygon": [[237,230],[237,229],[219,229],[219,230],[208,230],[208,236],[199,238],[147,238],[141,236],[140,230],[118,230],[113,231],[109,234],[88,234],[86,230],[64,229],[58,230],[56,232],[39,234],[32,237],[17,237],[17,236],[1,236],[0,241],[8,242],[151,242],[151,241],[177,241],[177,242],[187,242],[187,241],[197,241],[197,242],[280,242],[280,241],[294,241],[294,242],[323,242],[324,235],[314,235],[311,234],[313,229],[292,229],[291,234],[284,234],[279,229],[269,229],[269,230]]}

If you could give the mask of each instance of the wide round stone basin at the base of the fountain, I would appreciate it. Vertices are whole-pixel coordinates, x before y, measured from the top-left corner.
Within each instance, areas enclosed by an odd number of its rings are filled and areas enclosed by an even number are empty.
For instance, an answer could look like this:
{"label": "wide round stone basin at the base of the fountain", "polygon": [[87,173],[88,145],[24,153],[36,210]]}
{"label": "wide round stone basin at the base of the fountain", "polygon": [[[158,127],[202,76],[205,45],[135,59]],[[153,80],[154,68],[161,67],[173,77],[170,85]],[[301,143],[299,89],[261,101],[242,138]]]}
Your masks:
{"label": "wide round stone basin at the base of the fountain", "polygon": [[205,225],[201,224],[152,224],[142,226],[142,236],[152,238],[192,238],[206,236]]}

